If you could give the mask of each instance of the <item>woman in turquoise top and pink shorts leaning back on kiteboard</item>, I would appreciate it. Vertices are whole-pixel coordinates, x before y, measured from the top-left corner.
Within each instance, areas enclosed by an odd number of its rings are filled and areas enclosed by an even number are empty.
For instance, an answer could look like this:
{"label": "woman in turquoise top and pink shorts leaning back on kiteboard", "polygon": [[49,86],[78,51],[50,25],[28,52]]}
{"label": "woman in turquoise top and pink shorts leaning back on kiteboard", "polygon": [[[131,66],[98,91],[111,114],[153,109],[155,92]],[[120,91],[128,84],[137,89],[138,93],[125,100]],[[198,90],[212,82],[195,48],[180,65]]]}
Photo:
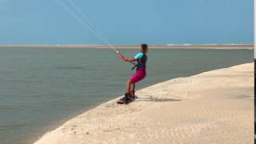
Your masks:
{"label": "woman in turquoise top and pink shorts leaning back on kiteboard", "polygon": [[141,45],[141,50],[134,58],[125,58],[126,62],[138,62],[136,73],[133,74],[126,83],[126,94],[124,98],[119,99],[118,103],[129,103],[135,98],[135,83],[146,77],[146,61],[148,46],[146,43]]}

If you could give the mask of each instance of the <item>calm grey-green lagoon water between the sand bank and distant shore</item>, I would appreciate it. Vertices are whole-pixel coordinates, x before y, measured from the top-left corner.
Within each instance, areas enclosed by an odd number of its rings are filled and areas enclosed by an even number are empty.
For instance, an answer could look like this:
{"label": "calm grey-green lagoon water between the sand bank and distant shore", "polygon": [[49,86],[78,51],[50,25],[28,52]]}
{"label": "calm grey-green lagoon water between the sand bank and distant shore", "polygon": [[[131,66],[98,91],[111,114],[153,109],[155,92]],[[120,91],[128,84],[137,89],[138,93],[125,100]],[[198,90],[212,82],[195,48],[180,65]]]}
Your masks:
{"label": "calm grey-green lagoon water between the sand bank and distant shore", "polygon": [[[246,62],[253,62],[253,50],[150,50],[147,78],[138,89]],[[120,96],[131,67],[108,49],[0,49],[0,143],[32,143]]]}

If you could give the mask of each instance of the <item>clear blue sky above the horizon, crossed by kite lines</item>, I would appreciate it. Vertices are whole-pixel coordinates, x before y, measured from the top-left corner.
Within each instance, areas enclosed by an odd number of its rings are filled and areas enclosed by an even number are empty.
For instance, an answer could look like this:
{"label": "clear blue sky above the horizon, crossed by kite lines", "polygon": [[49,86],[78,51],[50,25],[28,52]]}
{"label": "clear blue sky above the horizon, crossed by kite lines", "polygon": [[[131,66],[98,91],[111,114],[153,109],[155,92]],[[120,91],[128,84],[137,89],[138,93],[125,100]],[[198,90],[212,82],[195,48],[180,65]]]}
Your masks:
{"label": "clear blue sky above the horizon, crossed by kite lines", "polygon": [[[69,0],[58,0],[78,15]],[[114,45],[254,42],[253,0],[72,0]],[[82,18],[79,16],[79,18]],[[0,45],[106,44],[57,0],[0,0]]]}

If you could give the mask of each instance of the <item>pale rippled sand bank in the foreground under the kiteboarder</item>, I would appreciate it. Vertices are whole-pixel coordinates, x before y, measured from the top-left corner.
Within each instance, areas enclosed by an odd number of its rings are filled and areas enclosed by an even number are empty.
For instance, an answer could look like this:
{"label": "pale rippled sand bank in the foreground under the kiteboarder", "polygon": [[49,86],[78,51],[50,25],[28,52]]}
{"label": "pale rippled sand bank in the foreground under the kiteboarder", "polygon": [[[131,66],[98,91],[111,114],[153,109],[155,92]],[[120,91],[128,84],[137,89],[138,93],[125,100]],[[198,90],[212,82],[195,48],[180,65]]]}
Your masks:
{"label": "pale rippled sand bank in the foreground under the kiteboarder", "polygon": [[72,118],[36,144],[254,142],[254,63],[174,78]]}

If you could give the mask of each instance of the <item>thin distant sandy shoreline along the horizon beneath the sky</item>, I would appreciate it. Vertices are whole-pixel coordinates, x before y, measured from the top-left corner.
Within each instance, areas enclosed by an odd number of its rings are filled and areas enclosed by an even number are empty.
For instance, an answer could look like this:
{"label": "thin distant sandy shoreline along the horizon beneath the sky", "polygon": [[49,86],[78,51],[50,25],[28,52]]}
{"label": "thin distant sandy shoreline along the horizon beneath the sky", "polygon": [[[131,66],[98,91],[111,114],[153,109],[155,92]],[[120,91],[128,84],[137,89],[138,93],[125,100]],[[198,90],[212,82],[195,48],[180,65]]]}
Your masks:
{"label": "thin distant sandy shoreline along the horizon beneath the sky", "polygon": [[[115,45],[116,49],[138,49],[139,45]],[[107,45],[0,45],[0,48],[108,49]],[[253,44],[150,45],[150,49],[254,49]]]}

